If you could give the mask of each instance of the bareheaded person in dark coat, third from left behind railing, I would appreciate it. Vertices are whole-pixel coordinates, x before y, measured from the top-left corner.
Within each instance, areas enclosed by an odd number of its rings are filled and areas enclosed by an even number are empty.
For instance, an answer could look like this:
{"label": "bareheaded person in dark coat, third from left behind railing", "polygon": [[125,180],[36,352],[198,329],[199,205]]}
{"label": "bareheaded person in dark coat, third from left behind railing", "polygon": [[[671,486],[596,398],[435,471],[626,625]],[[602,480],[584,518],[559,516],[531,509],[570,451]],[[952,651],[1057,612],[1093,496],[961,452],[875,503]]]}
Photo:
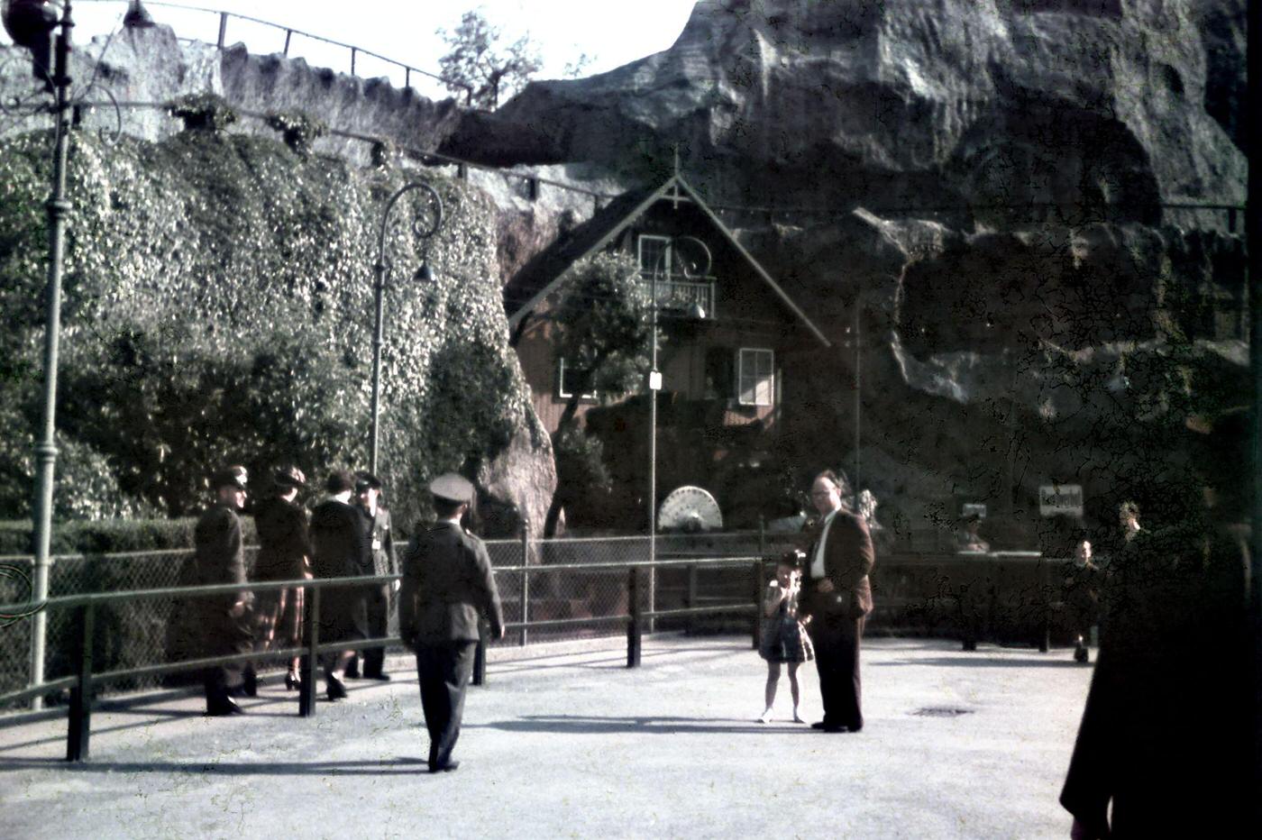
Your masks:
{"label": "bareheaded person in dark coat, third from left behind railing", "polygon": [[[357,578],[372,574],[369,530],[363,515],[351,506],[355,477],[337,470],[324,483],[329,498],[312,511],[312,571],[317,578]],[[369,637],[367,589],[329,586],[321,592],[319,638],[351,642]],[[324,657],[328,699],[346,696],[346,665],[355,651]]]}

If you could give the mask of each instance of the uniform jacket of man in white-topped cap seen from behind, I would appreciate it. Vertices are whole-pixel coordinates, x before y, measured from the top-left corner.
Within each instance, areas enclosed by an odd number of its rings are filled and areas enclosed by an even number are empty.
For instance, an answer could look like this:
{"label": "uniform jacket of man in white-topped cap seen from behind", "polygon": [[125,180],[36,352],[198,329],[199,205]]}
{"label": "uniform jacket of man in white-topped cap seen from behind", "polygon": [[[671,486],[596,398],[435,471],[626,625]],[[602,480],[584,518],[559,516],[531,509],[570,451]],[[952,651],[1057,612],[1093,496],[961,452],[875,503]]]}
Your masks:
{"label": "uniform jacket of man in white-topped cap seen from behind", "polygon": [[453,522],[413,537],[403,556],[399,629],[409,643],[473,642],[478,617],[500,634],[504,612],[482,540]]}

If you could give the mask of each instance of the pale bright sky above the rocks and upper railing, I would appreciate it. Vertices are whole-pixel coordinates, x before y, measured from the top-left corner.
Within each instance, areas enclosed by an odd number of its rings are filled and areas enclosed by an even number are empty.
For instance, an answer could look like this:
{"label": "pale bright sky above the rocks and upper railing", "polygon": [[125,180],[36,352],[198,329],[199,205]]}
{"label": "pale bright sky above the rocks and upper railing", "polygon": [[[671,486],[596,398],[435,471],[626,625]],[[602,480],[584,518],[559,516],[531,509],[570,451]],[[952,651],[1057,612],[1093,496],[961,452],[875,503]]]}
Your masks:
{"label": "pale bright sky above the rocks and upper railing", "polygon": [[[145,6],[159,23],[175,29],[180,38],[215,43],[220,19],[211,11],[175,9],[174,5],[230,11],[269,23],[292,26],[313,35],[343,42],[380,53],[419,69],[438,72],[438,57],[445,52],[435,29],[456,29],[461,15],[481,11],[501,29],[505,42],[529,34],[544,58],[538,78],[560,77],[565,66],[587,53],[592,63],[584,74],[621,67],[627,62],[670,47],[693,9],[694,0],[174,0]],[[74,0],[76,43],[109,34],[126,11],[126,0]],[[245,43],[250,52],[280,52],[284,32],[230,19],[227,43]],[[350,72],[350,50],[294,35],[290,57],[303,57],[318,67]],[[403,85],[403,71],[371,57],[360,55],[358,76],[389,76]],[[413,87],[430,96],[447,96],[437,82],[413,77]]]}

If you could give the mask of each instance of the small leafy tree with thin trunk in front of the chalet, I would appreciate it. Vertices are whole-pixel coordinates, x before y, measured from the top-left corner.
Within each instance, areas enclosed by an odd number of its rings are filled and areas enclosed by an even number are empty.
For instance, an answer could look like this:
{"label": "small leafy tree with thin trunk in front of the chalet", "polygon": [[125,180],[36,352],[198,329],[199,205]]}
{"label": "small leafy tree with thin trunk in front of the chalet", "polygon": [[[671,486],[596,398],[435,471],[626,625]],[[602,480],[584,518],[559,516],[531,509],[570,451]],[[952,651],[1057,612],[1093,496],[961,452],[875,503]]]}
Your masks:
{"label": "small leafy tree with thin trunk in front of the chalet", "polygon": [[[601,254],[574,265],[564,298],[554,310],[565,359],[569,401],[553,434],[558,453],[584,449],[572,433],[584,394],[621,396],[637,390],[649,368],[652,301],[640,280],[640,270],[627,255]],[[554,536],[565,501],[583,492],[592,472],[587,457],[558,457],[557,493],[553,496],[544,536]]]}

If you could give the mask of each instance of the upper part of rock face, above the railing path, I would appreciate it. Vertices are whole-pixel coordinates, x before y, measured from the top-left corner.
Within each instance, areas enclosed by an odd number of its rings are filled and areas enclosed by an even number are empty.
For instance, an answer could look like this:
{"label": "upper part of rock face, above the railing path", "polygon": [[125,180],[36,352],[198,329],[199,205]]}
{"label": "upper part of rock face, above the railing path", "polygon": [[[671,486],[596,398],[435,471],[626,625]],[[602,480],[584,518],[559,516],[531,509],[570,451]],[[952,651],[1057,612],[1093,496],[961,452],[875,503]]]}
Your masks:
{"label": "upper part of rock face, above the railing path", "polygon": [[670,49],[533,83],[447,148],[622,168],[680,144],[772,206],[1238,203],[1243,6],[703,0]]}

